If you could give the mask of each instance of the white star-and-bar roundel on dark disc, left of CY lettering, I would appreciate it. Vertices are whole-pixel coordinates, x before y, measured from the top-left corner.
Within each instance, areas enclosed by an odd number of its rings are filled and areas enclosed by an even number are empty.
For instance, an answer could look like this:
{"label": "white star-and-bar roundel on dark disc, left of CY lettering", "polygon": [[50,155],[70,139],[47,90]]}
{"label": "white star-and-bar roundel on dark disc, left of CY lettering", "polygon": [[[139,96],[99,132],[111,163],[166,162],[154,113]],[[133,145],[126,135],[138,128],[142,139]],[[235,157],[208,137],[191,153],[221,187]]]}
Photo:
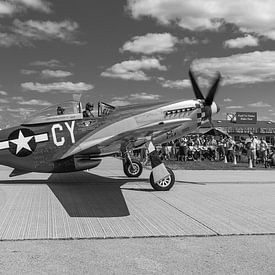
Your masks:
{"label": "white star-and-bar roundel on dark disc, left of CY lettering", "polygon": [[34,134],[27,128],[13,131],[6,141],[0,141],[0,150],[9,149],[17,157],[27,157],[32,154],[37,143],[48,141],[48,133]]}

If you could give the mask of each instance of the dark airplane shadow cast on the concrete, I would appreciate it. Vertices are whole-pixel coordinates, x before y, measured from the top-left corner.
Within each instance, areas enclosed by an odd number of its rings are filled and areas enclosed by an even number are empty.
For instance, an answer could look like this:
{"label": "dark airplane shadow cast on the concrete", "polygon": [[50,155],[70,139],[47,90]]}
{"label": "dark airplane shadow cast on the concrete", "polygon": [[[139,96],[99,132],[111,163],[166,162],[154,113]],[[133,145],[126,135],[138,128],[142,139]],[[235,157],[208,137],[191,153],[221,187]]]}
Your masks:
{"label": "dark airplane shadow cast on the concrete", "polygon": [[52,174],[47,180],[1,180],[0,184],[47,184],[70,217],[130,215],[121,186],[142,179],[106,178],[86,172]]}

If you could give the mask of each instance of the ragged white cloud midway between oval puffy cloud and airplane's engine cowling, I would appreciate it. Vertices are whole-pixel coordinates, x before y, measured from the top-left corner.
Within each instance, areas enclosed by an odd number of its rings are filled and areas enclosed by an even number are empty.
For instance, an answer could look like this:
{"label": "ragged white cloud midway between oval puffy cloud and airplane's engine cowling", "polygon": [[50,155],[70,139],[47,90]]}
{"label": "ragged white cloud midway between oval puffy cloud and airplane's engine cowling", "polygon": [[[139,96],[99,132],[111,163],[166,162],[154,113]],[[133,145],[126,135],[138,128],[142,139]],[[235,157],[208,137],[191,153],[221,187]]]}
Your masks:
{"label": "ragged white cloud midway between oval puffy cloud and airplane's engine cowling", "polygon": [[156,58],[143,57],[141,60],[128,60],[117,63],[101,73],[103,77],[121,78],[125,80],[146,81],[149,80],[143,70],[160,70],[166,71],[167,68],[159,63]]}

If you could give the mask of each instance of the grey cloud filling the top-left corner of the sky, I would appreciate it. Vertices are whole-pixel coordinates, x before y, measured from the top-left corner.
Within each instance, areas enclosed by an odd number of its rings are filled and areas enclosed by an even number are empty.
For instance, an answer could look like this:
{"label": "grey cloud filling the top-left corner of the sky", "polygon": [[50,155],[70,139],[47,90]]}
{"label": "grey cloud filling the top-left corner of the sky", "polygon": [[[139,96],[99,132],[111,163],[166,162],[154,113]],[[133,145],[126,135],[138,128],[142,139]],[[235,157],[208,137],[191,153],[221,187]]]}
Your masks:
{"label": "grey cloud filling the top-left corner of the sky", "polygon": [[0,17],[26,12],[28,9],[50,13],[51,4],[46,0],[7,0],[0,2]]}

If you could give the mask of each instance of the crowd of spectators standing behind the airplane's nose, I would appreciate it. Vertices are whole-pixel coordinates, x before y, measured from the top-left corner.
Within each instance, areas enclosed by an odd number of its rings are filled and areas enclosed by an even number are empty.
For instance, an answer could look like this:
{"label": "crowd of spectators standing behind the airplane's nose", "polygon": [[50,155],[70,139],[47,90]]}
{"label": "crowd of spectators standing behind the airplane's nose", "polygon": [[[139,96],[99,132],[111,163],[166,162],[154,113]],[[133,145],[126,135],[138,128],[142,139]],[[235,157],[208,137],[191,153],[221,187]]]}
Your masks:
{"label": "crowd of spectators standing behind the airplane's nose", "polygon": [[163,160],[176,161],[251,161],[265,167],[275,165],[274,147],[267,144],[264,138],[258,139],[252,133],[239,141],[231,136],[189,135],[168,144],[157,147]]}

